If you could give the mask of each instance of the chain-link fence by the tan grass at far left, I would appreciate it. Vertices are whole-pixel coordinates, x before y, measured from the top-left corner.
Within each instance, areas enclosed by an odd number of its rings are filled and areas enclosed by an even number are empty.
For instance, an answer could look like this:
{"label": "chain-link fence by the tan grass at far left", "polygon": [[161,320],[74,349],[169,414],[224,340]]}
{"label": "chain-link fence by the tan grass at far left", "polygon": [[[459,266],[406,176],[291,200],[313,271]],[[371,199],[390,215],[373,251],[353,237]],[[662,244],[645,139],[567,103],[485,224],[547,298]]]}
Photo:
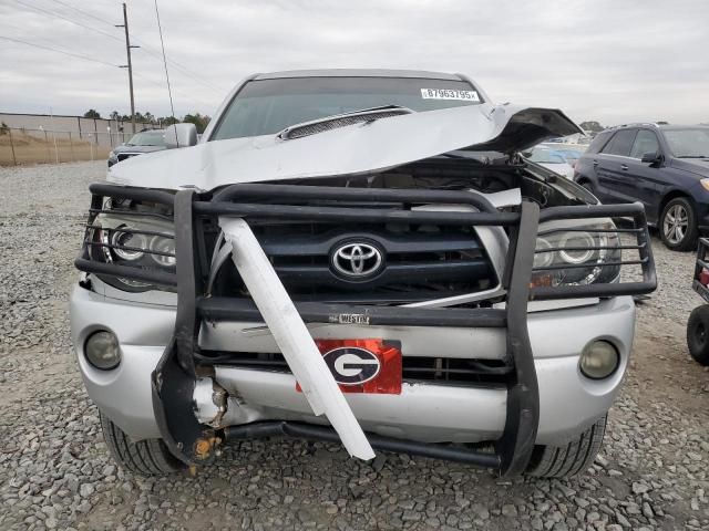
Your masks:
{"label": "chain-link fence by the tan grass at far left", "polygon": [[0,166],[102,160],[132,133],[0,127]]}

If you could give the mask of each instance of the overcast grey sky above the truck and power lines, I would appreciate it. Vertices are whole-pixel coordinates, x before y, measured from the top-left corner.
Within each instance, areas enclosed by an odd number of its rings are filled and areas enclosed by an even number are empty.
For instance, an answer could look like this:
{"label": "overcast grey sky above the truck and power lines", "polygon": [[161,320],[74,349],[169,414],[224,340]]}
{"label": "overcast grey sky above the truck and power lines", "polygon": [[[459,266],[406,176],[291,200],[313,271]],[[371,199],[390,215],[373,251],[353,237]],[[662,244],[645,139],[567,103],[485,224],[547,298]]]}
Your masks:
{"label": "overcast grey sky above the truck and power lines", "polygon": [[[136,111],[168,115],[154,3],[127,3],[144,46],[133,53]],[[709,122],[706,0],[158,6],[177,115],[213,114],[251,72],[403,67],[464,72],[496,102],[561,107],[577,122]],[[125,63],[121,22],[115,0],[0,0],[0,35],[109,63],[0,39],[0,111],[127,114],[127,73],[111,66]]]}

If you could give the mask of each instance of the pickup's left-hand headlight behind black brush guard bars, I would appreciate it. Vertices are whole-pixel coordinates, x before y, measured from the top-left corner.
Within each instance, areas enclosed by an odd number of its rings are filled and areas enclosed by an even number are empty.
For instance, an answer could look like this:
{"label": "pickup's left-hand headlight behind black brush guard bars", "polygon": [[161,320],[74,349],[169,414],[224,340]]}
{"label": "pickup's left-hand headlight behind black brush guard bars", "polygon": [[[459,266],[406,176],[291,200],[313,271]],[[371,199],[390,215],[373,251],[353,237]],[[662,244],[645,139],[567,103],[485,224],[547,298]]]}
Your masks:
{"label": "pickup's left-hand headlight behind black brush guard bars", "polygon": [[[88,237],[92,260],[143,271],[175,271],[174,226],[166,216],[125,215],[116,209],[96,216],[91,227]],[[100,277],[124,291],[165,289],[132,279]]]}

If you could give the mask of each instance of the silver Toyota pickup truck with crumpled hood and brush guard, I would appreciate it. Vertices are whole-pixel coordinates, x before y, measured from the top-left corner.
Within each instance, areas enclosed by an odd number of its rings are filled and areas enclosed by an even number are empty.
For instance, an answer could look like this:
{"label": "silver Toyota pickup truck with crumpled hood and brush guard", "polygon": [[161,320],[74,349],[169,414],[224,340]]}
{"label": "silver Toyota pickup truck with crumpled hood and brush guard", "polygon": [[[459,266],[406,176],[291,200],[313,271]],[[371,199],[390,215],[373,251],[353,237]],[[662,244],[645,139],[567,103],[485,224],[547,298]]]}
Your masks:
{"label": "silver Toyota pickup truck with crumpled hood and brush guard", "polygon": [[656,278],[640,205],[520,156],[577,132],[459,74],[280,72],[114,166],[71,298],[113,457],[166,473],[288,436],[585,470]]}

